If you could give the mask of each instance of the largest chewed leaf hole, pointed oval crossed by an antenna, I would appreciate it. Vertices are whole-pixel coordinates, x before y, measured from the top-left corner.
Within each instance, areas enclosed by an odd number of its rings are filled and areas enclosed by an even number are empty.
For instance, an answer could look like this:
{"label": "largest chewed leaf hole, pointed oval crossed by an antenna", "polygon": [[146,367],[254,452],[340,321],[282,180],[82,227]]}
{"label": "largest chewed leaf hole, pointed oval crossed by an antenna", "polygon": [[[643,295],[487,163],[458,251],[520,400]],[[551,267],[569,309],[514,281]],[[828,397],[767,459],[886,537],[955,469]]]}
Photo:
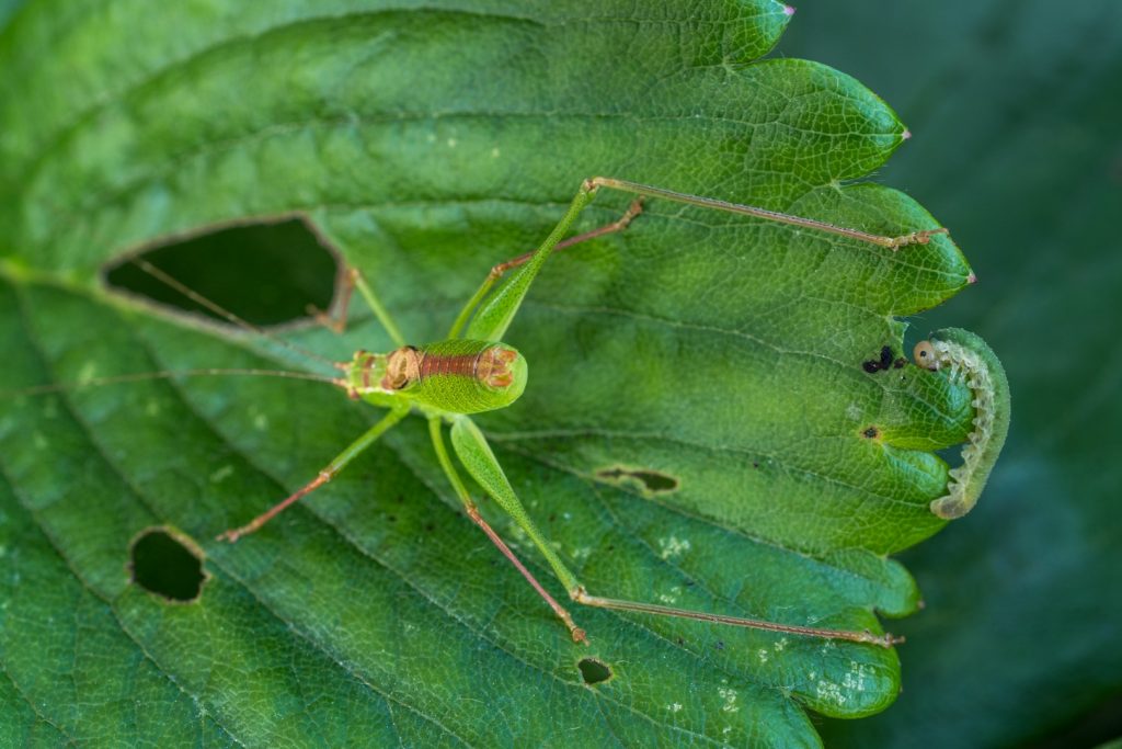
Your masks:
{"label": "largest chewed leaf hole, pointed oval crossed by an antenna", "polygon": [[138,258],[241,319],[266,327],[306,320],[310,308],[330,310],[339,276],[334,252],[302,218],[177,236],[102,272],[110,291],[221,322],[228,321],[146,273]]}

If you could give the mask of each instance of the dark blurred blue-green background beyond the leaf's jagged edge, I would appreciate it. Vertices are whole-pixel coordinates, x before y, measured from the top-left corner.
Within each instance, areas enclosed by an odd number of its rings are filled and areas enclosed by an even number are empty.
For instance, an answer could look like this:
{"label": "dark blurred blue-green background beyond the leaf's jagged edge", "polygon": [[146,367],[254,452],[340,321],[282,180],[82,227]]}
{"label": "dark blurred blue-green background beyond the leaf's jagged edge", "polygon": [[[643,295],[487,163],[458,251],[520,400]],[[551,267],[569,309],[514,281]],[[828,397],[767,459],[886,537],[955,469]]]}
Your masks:
{"label": "dark blurred blue-green background beyond the leaf's jagged edge", "polygon": [[977,509],[902,555],[904,692],[830,747],[1089,747],[1122,736],[1122,3],[797,2],[774,54],[881,94],[913,138],[876,179],[978,283],[917,316],[982,335],[1013,426]]}

